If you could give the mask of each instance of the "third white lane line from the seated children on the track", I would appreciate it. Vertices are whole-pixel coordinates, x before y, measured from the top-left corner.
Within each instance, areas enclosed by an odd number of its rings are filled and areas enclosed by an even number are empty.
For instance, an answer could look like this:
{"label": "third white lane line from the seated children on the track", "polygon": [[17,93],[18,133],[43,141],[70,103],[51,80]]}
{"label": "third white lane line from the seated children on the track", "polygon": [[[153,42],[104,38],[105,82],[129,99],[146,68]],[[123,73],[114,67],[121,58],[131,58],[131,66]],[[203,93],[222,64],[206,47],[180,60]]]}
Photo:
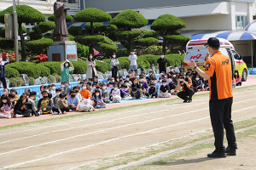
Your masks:
{"label": "third white lane line from the seated children on the track", "polygon": [[[236,103],[234,103],[234,104],[242,103],[242,102],[246,102],[246,101],[247,101],[247,100],[243,100],[243,101],[240,101],[240,102],[236,102]],[[20,148],[20,149],[18,149],[18,150],[11,150],[11,151],[8,151],[8,152],[3,152],[3,153],[0,153],[0,156],[1,156],[1,155],[5,155],[5,154],[9,154],[9,153],[13,153],[13,152],[16,152],[16,151],[20,151],[20,150],[31,149],[31,148],[38,147],[38,146],[42,146],[42,145],[45,145],[45,144],[53,144],[53,143],[56,143],[56,142],[60,142],[60,141],[63,141],[63,140],[67,140],[67,139],[79,138],[79,137],[82,137],[82,136],[85,136],[85,135],[89,135],[89,134],[93,134],[93,133],[102,133],[102,132],[105,132],[105,131],[108,131],[108,130],[117,129],[117,128],[120,128],[120,127],[129,127],[129,126],[131,126],[131,125],[142,124],[142,123],[145,123],[145,122],[152,122],[152,121],[156,121],[156,120],[160,120],[160,119],[170,118],[170,117],[172,117],[172,116],[181,116],[181,115],[184,115],[184,114],[189,114],[189,113],[193,113],[193,112],[197,112],[197,111],[204,111],[204,110],[207,110],[207,109],[208,109],[208,107],[207,107],[207,108],[204,108],[204,109],[201,109],[201,110],[186,111],[186,112],[179,113],[179,114],[175,114],[175,115],[171,115],[171,116],[164,116],[164,117],[149,119],[149,120],[143,121],[143,122],[134,122],[134,123],[130,123],[130,124],[118,126],[118,127],[105,128],[105,129],[98,130],[98,131],[95,131],[95,132],[83,133],[83,134],[75,135],[75,136],[73,136],[73,137],[68,137],[68,138],[65,138],[65,139],[57,139],[57,140],[53,140],[53,141],[50,141],[50,142],[47,142],[47,143],[43,143],[43,144],[36,144],[36,145],[28,146],[28,147],[25,147],[25,148]],[[166,110],[166,111],[169,111],[169,110]],[[156,112],[159,112],[159,111],[154,111],[154,112],[156,113]],[[153,113],[154,113],[154,112],[153,112]]]}

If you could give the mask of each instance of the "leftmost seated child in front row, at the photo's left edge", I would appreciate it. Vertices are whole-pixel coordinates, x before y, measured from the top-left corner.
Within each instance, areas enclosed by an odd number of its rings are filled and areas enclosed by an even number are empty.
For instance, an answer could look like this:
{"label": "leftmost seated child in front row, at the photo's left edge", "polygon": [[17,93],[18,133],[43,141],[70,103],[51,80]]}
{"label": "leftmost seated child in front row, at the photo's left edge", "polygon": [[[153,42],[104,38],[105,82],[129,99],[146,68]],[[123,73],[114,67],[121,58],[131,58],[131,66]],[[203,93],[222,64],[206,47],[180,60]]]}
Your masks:
{"label": "leftmost seated child in front row, at the photo's left edge", "polygon": [[12,104],[6,94],[1,96],[1,103],[0,103],[0,118],[11,118],[13,116],[14,110],[12,109]]}

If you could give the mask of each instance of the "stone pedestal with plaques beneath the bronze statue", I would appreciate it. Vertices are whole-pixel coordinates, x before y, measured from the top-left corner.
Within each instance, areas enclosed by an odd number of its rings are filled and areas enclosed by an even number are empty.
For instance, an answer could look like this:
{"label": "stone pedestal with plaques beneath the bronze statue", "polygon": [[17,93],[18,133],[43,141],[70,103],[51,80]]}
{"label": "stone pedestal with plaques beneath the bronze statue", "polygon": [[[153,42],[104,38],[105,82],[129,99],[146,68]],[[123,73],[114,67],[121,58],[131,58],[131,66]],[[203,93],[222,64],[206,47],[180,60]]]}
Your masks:
{"label": "stone pedestal with plaques beneath the bronze statue", "polygon": [[48,61],[78,60],[77,43],[74,41],[53,42],[48,48]]}

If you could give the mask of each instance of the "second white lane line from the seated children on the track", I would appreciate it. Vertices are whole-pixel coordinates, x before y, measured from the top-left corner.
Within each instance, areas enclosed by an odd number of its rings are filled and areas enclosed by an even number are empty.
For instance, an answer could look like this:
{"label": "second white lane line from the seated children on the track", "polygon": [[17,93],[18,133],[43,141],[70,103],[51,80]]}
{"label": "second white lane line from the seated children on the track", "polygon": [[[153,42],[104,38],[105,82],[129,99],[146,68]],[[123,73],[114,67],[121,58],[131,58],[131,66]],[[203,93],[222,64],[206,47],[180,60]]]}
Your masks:
{"label": "second white lane line from the seated children on the track", "polygon": [[[256,98],[254,98],[254,99],[256,99]],[[241,102],[246,102],[246,101],[249,101],[249,100],[252,100],[252,99],[242,100]],[[195,105],[202,105],[202,104],[204,104],[204,103],[195,104]],[[236,103],[234,103],[234,104],[236,104]],[[193,106],[195,106],[195,105],[193,105]],[[181,109],[181,108],[183,108],[183,107],[176,107],[176,108],[171,108],[171,109],[167,109],[167,110],[163,110],[163,111],[172,111],[172,110],[174,110],[174,109]],[[118,118],[118,119],[112,119],[112,120],[105,121],[105,122],[97,122],[97,123],[94,123],[94,124],[83,125],[83,126],[79,126],[79,127],[68,127],[68,128],[65,128],[65,129],[55,130],[55,131],[51,131],[51,132],[47,132],[47,133],[35,134],[35,135],[31,135],[31,136],[27,136],[27,137],[20,138],[20,139],[11,139],[11,140],[7,140],[7,141],[0,142],[0,144],[5,144],[5,143],[9,143],[9,142],[21,140],[21,139],[29,139],[29,138],[33,138],[33,137],[37,137],[37,136],[42,136],[42,135],[45,135],[45,134],[49,134],[49,133],[57,133],[57,132],[61,132],[61,131],[67,131],[67,130],[77,129],[77,128],[80,128],[80,127],[95,126],[95,125],[99,125],[99,124],[106,123],[106,122],[116,122],[116,121],[119,121],[119,120],[131,118],[131,117],[135,117],[135,116],[145,116],[145,115],[148,115],[148,114],[153,114],[153,113],[156,113],[156,112],[160,112],[160,111],[153,111],[153,112],[143,113],[143,114],[139,114],[139,115],[126,116],[126,117],[121,117],[121,118]]]}

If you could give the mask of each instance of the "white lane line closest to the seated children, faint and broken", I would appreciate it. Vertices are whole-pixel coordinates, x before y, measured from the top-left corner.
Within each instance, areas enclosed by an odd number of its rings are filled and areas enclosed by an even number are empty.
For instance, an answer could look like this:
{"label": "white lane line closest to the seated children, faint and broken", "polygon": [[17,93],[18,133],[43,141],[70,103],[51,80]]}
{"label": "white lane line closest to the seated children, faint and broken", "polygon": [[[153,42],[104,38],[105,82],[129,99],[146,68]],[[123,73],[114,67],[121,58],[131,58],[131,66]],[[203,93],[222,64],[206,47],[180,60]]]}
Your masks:
{"label": "white lane line closest to the seated children, faint and broken", "polygon": [[[243,93],[236,93],[236,94],[243,94]],[[250,96],[250,95],[254,95],[254,94],[247,94],[247,95],[241,95],[241,96],[236,96],[236,97],[245,97],[245,96]],[[201,100],[206,100],[206,99],[198,99],[198,100],[195,100],[194,102],[201,101]],[[158,107],[156,107],[156,108],[158,108]],[[148,110],[148,108],[137,110],[137,111],[144,111],[144,110]],[[70,124],[70,123],[84,122],[84,121],[88,121],[88,120],[92,120],[92,119],[98,119],[98,118],[102,118],[102,117],[106,117],[106,116],[116,116],[116,115],[131,113],[131,112],[133,113],[134,111],[119,112],[119,113],[113,114],[113,115],[97,116],[97,117],[92,117],[92,118],[89,118],[89,119],[82,119],[82,120],[79,120],[79,121],[60,123],[60,124],[51,125],[51,126],[44,126],[44,127],[36,127],[36,128],[26,129],[26,130],[14,131],[14,132],[10,132],[10,133],[2,133],[2,134],[0,133],[0,136],[1,135],[6,135],[6,134],[13,134],[13,133],[22,133],[22,132],[27,132],[27,131],[32,131],[32,130],[35,131],[35,130],[42,129],[42,128],[47,128],[47,127],[57,127],[57,126],[67,125],[67,124]]]}

